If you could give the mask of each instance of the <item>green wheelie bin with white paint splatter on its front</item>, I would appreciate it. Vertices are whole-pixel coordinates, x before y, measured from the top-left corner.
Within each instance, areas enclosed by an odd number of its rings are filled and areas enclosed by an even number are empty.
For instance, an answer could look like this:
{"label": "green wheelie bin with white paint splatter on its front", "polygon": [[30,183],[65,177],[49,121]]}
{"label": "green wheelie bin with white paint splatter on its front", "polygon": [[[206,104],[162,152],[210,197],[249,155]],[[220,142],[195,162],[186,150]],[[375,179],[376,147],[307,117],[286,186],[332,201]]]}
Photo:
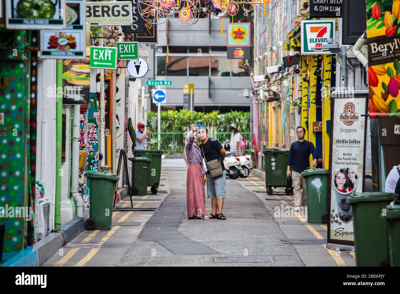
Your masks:
{"label": "green wheelie bin with white paint splatter on its front", "polygon": [[310,223],[328,224],[328,172],[324,168],[302,172],[306,179],[307,221]]}

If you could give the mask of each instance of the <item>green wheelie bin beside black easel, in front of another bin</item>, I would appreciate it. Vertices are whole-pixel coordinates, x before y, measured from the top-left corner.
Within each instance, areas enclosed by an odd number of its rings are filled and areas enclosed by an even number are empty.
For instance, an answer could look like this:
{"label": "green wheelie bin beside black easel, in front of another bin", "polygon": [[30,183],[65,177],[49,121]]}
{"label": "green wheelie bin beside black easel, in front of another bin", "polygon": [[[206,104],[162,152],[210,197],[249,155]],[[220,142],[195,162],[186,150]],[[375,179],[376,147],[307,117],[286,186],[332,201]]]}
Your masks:
{"label": "green wheelie bin beside black easel, in front of another bin", "polygon": [[132,195],[147,195],[148,170],[152,162],[147,157],[130,157],[132,161]]}

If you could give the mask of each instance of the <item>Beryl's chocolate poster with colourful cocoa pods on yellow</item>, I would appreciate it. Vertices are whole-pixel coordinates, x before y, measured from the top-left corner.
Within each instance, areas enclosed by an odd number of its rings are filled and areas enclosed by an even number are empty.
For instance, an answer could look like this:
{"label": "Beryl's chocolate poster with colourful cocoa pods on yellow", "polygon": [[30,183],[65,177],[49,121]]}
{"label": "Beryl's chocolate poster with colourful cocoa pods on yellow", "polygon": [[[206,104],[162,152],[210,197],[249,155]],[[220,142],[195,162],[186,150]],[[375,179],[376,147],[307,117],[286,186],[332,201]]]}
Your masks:
{"label": "Beryl's chocolate poster with colourful cocoa pods on yellow", "polygon": [[400,116],[400,1],[366,4],[369,115]]}

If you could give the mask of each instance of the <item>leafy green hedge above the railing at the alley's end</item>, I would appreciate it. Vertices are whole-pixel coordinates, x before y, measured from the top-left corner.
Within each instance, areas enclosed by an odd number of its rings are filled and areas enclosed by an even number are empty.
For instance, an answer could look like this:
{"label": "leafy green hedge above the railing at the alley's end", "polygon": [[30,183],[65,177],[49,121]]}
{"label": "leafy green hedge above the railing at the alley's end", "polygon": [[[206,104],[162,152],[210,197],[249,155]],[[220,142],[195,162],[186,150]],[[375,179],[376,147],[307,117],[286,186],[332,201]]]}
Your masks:
{"label": "leafy green hedge above the railing at the alley's end", "polygon": [[[152,133],[157,132],[157,112],[147,112],[147,124]],[[192,124],[204,124],[207,128],[216,127],[216,132],[229,132],[230,124],[240,125],[241,132],[250,132],[250,112],[219,111],[197,112],[188,110],[166,110],[161,112],[161,132],[184,132]]]}

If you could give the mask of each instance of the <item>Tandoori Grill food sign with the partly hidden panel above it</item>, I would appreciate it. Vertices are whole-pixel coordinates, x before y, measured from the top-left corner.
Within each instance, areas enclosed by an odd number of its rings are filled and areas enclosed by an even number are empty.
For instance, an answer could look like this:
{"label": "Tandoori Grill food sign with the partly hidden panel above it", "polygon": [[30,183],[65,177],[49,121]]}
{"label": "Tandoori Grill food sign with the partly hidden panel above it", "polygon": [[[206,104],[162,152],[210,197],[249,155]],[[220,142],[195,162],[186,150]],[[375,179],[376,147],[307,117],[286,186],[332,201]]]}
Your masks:
{"label": "Tandoori Grill food sign with the partly hidden panel above it", "polygon": [[67,0],[66,30],[41,30],[42,58],[86,58],[85,3]]}

